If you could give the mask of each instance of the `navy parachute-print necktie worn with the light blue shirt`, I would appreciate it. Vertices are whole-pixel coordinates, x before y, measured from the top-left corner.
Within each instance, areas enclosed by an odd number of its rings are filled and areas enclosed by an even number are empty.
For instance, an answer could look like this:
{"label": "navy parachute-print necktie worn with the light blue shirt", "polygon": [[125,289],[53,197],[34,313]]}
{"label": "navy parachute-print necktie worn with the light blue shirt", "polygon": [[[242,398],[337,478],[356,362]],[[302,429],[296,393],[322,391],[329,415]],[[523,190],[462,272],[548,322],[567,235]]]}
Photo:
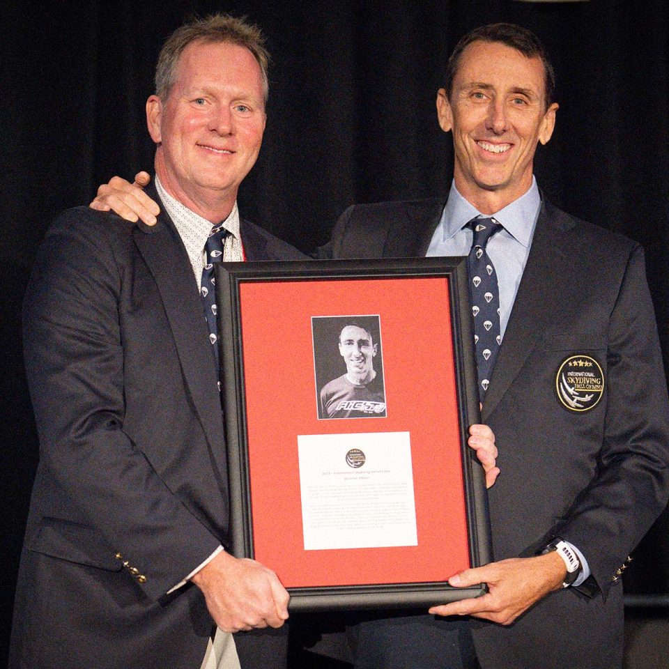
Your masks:
{"label": "navy parachute-print necktie worn with the light blue shirt", "polygon": [[502,226],[494,218],[475,218],[467,224],[474,231],[467,257],[469,289],[474,314],[474,344],[479,377],[479,399],[484,400],[495,358],[502,344],[500,330],[500,291],[495,266],[486,253],[489,239]]}

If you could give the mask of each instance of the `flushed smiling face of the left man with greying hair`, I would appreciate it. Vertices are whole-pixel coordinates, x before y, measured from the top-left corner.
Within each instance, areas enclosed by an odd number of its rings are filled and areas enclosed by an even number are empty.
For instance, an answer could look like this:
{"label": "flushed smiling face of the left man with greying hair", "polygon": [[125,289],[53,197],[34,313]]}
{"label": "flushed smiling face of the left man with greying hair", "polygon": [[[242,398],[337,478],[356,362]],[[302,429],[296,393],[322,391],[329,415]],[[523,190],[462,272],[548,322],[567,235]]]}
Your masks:
{"label": "flushed smiling face of the left man with greying hair", "polygon": [[265,129],[263,80],[253,54],[231,43],[191,43],[167,100],[151,95],[146,118],[167,192],[209,220],[226,217]]}

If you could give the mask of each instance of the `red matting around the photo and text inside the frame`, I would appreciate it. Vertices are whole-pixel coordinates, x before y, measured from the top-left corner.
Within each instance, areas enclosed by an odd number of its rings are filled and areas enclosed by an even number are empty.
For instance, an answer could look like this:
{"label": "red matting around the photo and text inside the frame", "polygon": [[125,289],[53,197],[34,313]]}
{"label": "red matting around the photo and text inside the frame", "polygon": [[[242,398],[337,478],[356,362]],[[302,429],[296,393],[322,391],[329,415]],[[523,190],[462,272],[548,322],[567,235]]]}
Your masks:
{"label": "red matting around the photo and text inside the frame", "polygon": [[[470,567],[447,279],[243,282],[256,560],[286,587],[421,583]],[[380,316],[386,418],[318,420],[312,316]],[[305,551],[298,434],[410,433],[417,546]]]}

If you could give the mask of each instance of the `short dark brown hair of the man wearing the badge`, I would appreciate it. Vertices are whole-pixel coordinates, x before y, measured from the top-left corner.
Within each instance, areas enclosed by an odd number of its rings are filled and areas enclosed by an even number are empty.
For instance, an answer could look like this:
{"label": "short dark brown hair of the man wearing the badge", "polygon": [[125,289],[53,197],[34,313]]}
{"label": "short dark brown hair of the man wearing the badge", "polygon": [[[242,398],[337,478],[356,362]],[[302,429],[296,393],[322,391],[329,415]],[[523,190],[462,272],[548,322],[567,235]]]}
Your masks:
{"label": "short dark brown hair of the man wearing the badge", "polygon": [[453,91],[453,80],[460,65],[462,52],[474,42],[499,42],[507,47],[516,49],[527,58],[538,57],[544,65],[544,89],[546,95],[546,109],[555,102],[555,71],[548,60],[548,54],[544,45],[532,31],[514,23],[491,23],[487,26],[481,26],[467,33],[459,43],[455,45],[451,57],[446,66],[446,77],[444,88],[447,97],[451,98]]}

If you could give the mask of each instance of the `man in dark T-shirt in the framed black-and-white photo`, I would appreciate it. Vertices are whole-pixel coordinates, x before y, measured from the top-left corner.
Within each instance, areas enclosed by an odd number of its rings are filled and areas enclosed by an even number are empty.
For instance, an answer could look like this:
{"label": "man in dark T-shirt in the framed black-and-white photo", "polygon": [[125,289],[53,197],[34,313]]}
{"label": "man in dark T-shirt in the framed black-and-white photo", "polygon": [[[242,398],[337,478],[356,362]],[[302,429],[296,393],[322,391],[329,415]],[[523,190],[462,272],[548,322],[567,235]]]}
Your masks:
{"label": "man in dark T-shirt in the framed black-and-white photo", "polygon": [[346,374],[321,388],[321,418],[385,417],[383,377],[374,369],[378,341],[352,321],[341,329],[337,346]]}

